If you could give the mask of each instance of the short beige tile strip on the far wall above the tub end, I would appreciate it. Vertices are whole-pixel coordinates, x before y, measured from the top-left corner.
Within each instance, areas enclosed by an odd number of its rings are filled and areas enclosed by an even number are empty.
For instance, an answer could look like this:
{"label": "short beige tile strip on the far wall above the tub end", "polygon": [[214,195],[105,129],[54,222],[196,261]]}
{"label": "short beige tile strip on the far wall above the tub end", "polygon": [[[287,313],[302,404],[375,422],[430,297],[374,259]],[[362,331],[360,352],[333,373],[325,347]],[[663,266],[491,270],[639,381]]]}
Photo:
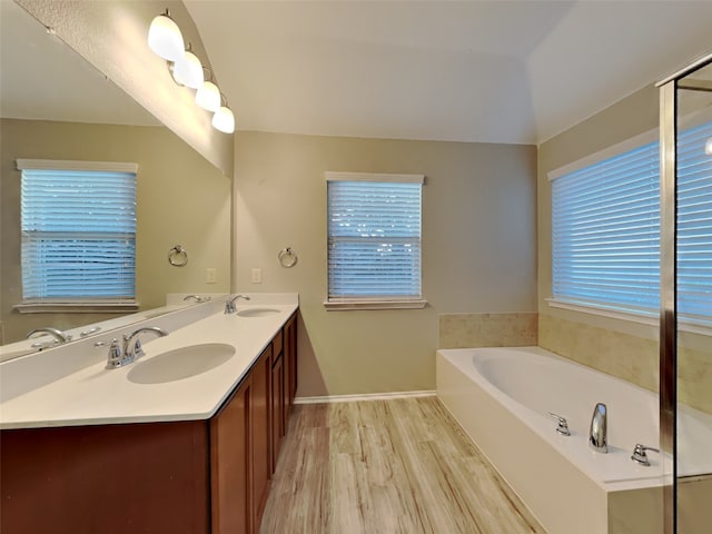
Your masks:
{"label": "short beige tile strip on the far wall above the tub end", "polygon": [[537,315],[443,314],[438,348],[527,347],[537,343]]}

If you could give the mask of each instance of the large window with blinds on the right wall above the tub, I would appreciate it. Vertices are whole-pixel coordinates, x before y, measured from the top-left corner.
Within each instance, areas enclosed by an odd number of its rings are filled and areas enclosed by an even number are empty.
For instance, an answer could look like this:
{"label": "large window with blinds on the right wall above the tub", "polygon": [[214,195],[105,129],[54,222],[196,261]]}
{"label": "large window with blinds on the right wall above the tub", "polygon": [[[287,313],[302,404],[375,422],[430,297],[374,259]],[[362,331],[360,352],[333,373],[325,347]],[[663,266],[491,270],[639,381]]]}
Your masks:
{"label": "large window with blinds on the right wall above the tub", "polygon": [[[712,122],[678,140],[678,308],[712,322]],[[652,142],[552,182],[553,300],[656,315],[660,152]]]}

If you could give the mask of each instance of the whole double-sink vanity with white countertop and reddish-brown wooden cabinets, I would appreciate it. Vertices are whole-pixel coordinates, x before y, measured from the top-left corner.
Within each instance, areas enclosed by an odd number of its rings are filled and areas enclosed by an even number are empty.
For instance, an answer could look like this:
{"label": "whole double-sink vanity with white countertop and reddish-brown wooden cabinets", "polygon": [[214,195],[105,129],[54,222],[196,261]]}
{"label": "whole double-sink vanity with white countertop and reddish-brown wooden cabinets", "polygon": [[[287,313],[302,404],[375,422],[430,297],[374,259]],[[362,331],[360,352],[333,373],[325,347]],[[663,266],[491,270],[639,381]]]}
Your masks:
{"label": "whole double-sink vanity with white countertop and reddish-brown wooden cabinets", "polygon": [[[177,317],[150,322],[170,335],[146,336],[146,356],[126,368],[103,368],[106,348],[97,356],[92,343],[90,365],[3,393],[0,531],[258,531],[297,385],[297,305],[249,304],[229,315],[221,305],[172,330]],[[148,365],[185,347],[205,360],[216,346],[235,354],[192,375]],[[75,365],[81,357],[69,350]],[[6,367],[16,382],[37,375],[36,363],[9,364],[20,366]],[[152,369],[139,373],[141,365]]]}

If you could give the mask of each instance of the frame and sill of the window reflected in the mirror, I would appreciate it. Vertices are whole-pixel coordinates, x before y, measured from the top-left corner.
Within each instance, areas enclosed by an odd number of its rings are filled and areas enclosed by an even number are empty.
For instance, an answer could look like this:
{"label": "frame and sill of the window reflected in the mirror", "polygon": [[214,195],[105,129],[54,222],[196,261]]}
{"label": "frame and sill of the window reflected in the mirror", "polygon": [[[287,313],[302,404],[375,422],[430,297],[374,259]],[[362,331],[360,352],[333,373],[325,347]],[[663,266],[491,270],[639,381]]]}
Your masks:
{"label": "frame and sill of the window reflected in the mirror", "polygon": [[[49,171],[79,171],[79,172],[123,172],[134,175],[134,188],[138,186],[138,165],[134,162],[115,162],[115,161],[80,161],[80,160],[48,160],[48,159],[17,159],[17,169],[20,171],[20,180],[23,180],[24,170],[49,170]],[[136,206],[137,192],[135,191],[134,206]],[[22,211],[22,209],[21,209]],[[23,234],[24,230],[21,229]],[[97,235],[88,233],[90,235]],[[132,234],[136,244],[137,229]],[[21,243],[24,237],[20,238]],[[20,258],[20,270],[23,276],[23,255]],[[132,295],[117,297],[26,297],[24,283],[22,281],[22,300],[13,306],[18,313],[36,314],[36,313],[127,313],[135,312],[139,308],[136,295],[136,248],[134,249],[134,290]]]}

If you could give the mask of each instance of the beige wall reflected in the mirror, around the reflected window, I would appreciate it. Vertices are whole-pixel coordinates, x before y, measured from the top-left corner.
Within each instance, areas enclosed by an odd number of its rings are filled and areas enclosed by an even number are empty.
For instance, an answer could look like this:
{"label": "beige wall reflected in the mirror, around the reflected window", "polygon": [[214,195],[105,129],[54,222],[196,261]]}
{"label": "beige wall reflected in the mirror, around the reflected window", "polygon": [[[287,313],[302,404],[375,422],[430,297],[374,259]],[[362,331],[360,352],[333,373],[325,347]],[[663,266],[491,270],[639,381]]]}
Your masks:
{"label": "beige wall reflected in the mirror, around the reflected window", "polygon": [[[3,343],[38,326],[68,328],[111,315],[20,315],[20,172],[17,158],[130,161],[137,177],[137,296],[141,308],[166,304],[167,293],[228,291],[230,284],[231,179],[159,127],[87,125],[2,119],[0,319]],[[189,253],[186,267],[168,265],[176,244]],[[206,284],[215,267],[218,284]]]}

